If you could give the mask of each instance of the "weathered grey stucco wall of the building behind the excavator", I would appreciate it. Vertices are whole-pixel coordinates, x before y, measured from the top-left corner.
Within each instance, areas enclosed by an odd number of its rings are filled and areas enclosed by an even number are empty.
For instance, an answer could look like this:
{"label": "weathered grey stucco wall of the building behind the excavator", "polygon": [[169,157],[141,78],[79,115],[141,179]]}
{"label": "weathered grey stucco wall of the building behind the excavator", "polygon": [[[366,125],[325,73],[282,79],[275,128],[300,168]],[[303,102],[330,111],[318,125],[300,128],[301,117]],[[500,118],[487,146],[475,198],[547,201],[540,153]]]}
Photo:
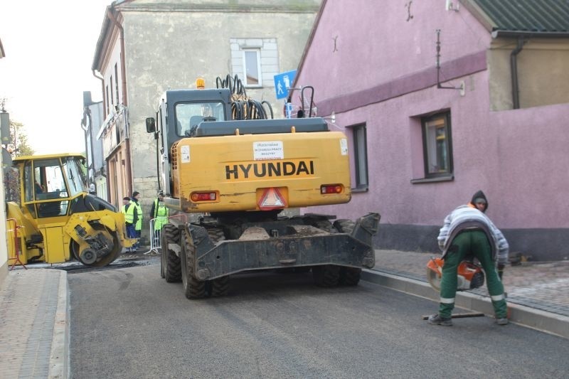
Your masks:
{"label": "weathered grey stucco wall of the building behind the excavator", "polygon": [[[312,2],[318,4],[318,1]],[[280,72],[297,67],[314,20],[311,13],[124,12],[130,137],[135,187],[156,176],[154,140],[144,119],[154,114],[167,89],[193,88],[196,78],[215,87],[230,71],[230,38],[277,38]],[[286,26],[286,27],[285,27]],[[274,82],[248,89],[256,100],[276,101]]]}

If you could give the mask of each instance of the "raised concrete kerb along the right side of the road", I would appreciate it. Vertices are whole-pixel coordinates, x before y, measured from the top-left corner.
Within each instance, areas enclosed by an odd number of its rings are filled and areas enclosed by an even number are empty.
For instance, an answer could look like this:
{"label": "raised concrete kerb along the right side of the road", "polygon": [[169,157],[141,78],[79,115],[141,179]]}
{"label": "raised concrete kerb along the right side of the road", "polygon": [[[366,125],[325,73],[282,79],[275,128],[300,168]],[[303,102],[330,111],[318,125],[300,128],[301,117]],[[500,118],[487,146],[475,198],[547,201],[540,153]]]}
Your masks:
{"label": "raised concrete kerb along the right side of the road", "polygon": [[[432,301],[439,301],[439,294],[435,292],[429,284],[419,280],[400,277],[387,272],[378,272],[371,269],[363,269],[361,279],[366,282],[378,284],[382,287],[395,289],[395,291],[405,292],[417,297],[423,297]],[[468,292],[457,292],[457,307],[469,309],[475,312],[481,312],[487,316],[494,316],[494,308],[491,300],[478,294]],[[433,308],[433,313],[436,308]],[[569,338],[569,317],[559,314],[553,314],[539,309],[533,309],[528,306],[508,303],[508,318],[514,324],[526,326],[531,329],[543,331],[546,333]]]}

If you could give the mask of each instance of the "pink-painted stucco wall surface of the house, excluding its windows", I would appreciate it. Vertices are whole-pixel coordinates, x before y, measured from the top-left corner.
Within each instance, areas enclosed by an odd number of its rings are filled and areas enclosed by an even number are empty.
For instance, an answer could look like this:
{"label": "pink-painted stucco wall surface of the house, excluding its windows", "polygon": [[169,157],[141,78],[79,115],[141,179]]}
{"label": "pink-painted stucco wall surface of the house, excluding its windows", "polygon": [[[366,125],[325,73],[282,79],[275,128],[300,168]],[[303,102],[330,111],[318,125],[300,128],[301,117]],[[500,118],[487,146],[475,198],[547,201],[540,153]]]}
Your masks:
{"label": "pink-painted stucco wall surface of the house, excluding its windows", "polygon": [[[440,6],[413,2],[410,12],[397,1],[385,1],[381,7],[367,1],[326,3],[297,83],[313,85],[317,104],[329,111],[334,110],[331,105],[344,106],[336,111],[338,127],[366,124],[369,191],[353,193],[349,204],[309,211],[357,218],[375,210],[382,215],[380,229],[400,232],[400,246],[413,240],[416,248],[436,248],[428,241],[437,225],[482,189],[489,197],[488,215],[499,228],[532,230],[531,243],[511,241],[517,251],[531,245],[542,248],[533,251],[534,257],[552,251],[555,257],[569,256],[560,239],[546,247],[551,237],[569,231],[564,189],[569,186],[569,104],[491,112],[486,68],[443,83],[464,81],[464,97],[458,90],[437,89],[437,28],[442,31],[443,78],[445,63],[473,57],[491,43],[489,33],[466,10],[447,12],[444,1]],[[413,90],[401,92],[405,81],[400,78],[427,84],[411,83]],[[377,96],[377,102],[372,98],[369,105],[345,106],[363,103],[366,93]],[[422,175],[420,116],[438,110],[451,112],[454,180],[413,184],[410,181]],[[540,237],[541,244],[536,242]]]}

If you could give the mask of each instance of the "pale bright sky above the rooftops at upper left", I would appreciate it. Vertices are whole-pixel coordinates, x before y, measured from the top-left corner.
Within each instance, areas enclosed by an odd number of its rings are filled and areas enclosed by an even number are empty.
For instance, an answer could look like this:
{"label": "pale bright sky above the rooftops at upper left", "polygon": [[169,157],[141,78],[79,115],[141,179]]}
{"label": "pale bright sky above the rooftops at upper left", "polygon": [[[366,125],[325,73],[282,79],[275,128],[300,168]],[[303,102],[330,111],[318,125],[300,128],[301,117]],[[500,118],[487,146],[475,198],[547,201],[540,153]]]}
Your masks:
{"label": "pale bright sky above the rooftops at upper left", "polygon": [[101,101],[91,65],[112,0],[0,0],[0,99],[36,154],[85,151],[83,91]]}

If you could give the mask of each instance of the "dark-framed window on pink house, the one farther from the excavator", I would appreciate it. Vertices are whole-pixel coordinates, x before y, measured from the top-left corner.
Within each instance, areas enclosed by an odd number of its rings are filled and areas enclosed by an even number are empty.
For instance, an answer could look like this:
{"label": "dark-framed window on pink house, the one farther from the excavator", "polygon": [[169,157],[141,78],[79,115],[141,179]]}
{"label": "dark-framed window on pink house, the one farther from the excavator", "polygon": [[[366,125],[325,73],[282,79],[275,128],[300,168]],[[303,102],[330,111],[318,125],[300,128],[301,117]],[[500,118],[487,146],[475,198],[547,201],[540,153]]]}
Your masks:
{"label": "dark-framed window on pink house, the one farther from the excavator", "polygon": [[425,178],[452,175],[452,144],[450,112],[435,114],[421,120]]}

